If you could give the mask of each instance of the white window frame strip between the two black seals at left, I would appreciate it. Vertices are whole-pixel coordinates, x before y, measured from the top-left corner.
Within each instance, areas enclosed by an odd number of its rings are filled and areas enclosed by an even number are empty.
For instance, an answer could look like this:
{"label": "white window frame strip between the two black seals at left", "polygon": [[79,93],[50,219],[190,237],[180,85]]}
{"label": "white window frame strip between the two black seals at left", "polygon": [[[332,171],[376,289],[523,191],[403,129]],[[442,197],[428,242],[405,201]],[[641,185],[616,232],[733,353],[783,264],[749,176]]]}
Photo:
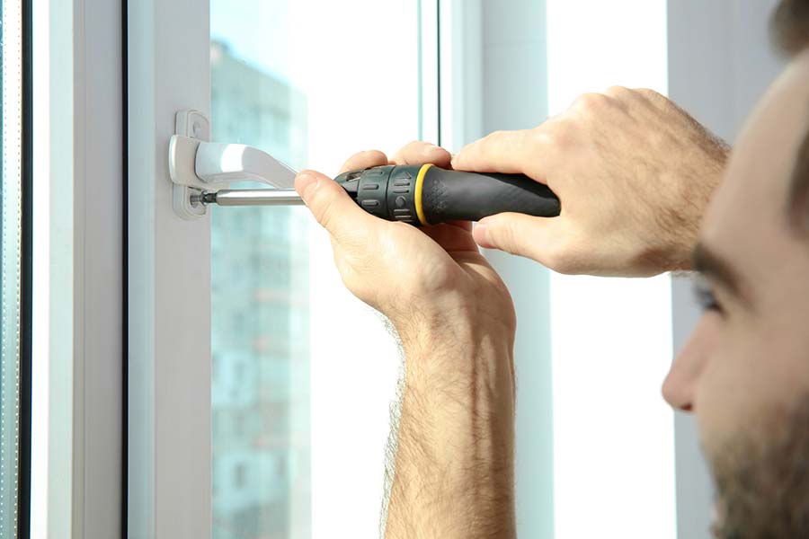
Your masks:
{"label": "white window frame strip between the two black seals at left", "polygon": [[34,539],[121,532],[120,8],[32,2]]}

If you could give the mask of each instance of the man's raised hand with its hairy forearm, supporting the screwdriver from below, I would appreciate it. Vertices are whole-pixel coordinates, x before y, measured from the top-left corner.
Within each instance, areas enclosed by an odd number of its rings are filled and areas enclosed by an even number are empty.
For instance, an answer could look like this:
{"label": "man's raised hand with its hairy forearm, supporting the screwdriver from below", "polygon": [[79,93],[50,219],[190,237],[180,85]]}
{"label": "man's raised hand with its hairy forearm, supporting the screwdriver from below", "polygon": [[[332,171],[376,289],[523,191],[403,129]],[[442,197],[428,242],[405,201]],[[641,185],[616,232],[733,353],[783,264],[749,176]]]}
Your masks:
{"label": "man's raised hand with its hairy forearm, supporting the screwdriver from below", "polygon": [[[446,167],[449,159],[413,143],[392,163]],[[365,152],[342,171],[387,163]],[[386,536],[513,536],[516,320],[471,224],[419,229],[379,219],[319,172],[301,172],[295,187],[331,234],[346,287],[387,315],[405,350]]]}

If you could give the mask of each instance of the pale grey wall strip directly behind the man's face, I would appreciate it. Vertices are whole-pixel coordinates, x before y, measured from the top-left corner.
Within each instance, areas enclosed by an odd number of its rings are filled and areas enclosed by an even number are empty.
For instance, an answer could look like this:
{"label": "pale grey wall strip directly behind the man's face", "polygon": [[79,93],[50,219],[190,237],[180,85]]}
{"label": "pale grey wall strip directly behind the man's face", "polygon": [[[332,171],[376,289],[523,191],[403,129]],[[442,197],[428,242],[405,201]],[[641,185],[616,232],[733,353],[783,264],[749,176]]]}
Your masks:
{"label": "pale grey wall strip directly behind the man's face", "polygon": [[[733,141],[782,62],[769,47],[767,22],[778,0],[669,2],[669,93],[704,125]],[[700,310],[688,280],[671,285],[674,351]],[[707,539],[713,489],[693,418],[675,418],[679,537]]]}

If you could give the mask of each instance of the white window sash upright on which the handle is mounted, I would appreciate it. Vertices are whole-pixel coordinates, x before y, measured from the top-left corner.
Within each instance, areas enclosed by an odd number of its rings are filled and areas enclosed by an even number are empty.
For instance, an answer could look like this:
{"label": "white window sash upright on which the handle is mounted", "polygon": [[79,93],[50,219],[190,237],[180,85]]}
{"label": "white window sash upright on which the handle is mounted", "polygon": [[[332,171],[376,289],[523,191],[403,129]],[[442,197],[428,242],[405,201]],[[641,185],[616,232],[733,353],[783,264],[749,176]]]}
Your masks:
{"label": "white window sash upright on which the handle is mounted", "polygon": [[178,110],[210,113],[209,3],[129,2],[127,33],[128,533],[206,539],[210,220],[174,214],[167,149]]}

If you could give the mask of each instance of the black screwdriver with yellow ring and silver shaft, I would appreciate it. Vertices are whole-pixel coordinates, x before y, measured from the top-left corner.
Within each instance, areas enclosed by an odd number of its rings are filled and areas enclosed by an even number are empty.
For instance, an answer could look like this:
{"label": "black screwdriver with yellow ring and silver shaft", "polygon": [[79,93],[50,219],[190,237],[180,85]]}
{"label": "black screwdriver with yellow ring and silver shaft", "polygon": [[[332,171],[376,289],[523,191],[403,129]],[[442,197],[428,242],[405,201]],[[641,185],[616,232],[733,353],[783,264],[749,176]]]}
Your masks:
{"label": "black screwdriver with yellow ring and silver shaft", "polygon": [[[344,172],[334,181],[369,214],[416,226],[479,221],[502,212],[554,217],[561,210],[559,199],[547,185],[524,174],[451,171],[428,163]],[[219,206],[303,203],[289,189],[219,190],[205,192],[199,200]]]}

